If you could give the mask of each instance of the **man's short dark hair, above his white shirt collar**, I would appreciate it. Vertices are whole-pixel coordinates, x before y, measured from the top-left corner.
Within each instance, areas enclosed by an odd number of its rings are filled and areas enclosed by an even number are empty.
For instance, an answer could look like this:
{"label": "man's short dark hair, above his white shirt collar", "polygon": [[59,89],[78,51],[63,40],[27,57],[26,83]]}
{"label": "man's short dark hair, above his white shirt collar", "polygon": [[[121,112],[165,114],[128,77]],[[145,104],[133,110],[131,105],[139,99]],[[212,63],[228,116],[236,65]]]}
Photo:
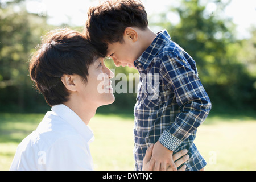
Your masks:
{"label": "man's short dark hair, above his white shirt collar", "polygon": [[68,101],[61,77],[77,74],[87,81],[88,67],[97,59],[96,49],[83,34],[68,28],[49,32],[30,60],[30,77],[50,106]]}

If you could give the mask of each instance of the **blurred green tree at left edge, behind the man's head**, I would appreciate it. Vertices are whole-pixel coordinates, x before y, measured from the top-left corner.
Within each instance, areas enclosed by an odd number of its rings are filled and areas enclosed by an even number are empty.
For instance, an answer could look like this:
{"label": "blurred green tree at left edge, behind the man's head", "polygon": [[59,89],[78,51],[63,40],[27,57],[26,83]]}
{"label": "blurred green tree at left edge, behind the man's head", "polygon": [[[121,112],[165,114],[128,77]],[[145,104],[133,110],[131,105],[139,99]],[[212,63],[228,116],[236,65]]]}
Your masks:
{"label": "blurred green tree at left edge, behind the man's head", "polygon": [[[34,100],[28,77],[28,60],[42,33],[46,18],[27,13],[22,5],[1,4],[0,9],[0,102],[1,107],[23,111]],[[38,94],[38,93],[37,93]],[[31,99],[32,98],[32,99]]]}

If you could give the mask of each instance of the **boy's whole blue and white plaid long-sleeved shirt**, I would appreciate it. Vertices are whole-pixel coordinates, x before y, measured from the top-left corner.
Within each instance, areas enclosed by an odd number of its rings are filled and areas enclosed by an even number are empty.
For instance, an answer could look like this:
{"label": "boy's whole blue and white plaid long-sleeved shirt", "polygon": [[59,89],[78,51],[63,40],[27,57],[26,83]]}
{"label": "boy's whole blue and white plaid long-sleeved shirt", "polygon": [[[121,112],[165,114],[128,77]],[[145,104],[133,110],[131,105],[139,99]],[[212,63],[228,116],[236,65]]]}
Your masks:
{"label": "boy's whole blue and white plaid long-sleeved shirt", "polygon": [[207,163],[193,141],[211,103],[195,61],[163,30],[134,65],[140,73],[134,107],[135,169],[142,170],[147,148],[159,140],[174,154],[187,148],[187,170],[200,170]]}

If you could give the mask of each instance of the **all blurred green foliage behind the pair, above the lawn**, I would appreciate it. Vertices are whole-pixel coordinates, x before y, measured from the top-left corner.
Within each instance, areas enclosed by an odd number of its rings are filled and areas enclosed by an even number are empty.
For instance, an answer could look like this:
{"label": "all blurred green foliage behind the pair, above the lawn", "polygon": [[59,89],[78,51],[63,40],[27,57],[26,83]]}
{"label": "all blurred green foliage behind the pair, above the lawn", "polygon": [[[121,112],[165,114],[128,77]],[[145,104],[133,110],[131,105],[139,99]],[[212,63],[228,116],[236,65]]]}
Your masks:
{"label": "all blurred green foliage behind the pair, above the lawn", "polygon": [[[177,42],[195,59],[199,77],[213,104],[213,110],[256,109],[255,27],[249,40],[236,40],[232,19],[222,18],[221,11],[209,12],[205,1],[183,0],[170,12],[179,15],[179,23],[172,24],[168,12],[160,13],[160,21],[149,18],[150,24],[167,29]],[[226,4],[213,1],[218,9]],[[228,2],[227,2],[228,3]],[[49,110],[42,95],[33,88],[28,76],[28,60],[40,37],[55,28],[46,22],[47,17],[27,13],[22,0],[0,3],[0,110],[33,111]],[[18,8],[17,8],[18,7]],[[175,16],[174,16],[175,17]],[[172,18],[172,17],[171,17]],[[73,27],[81,30],[81,27]],[[129,85],[131,68],[116,68],[106,61],[115,75],[125,73]],[[115,80],[115,85],[120,80]],[[135,88],[135,82],[133,83]],[[133,112],[134,93],[116,93],[115,102],[98,111],[129,110]]]}

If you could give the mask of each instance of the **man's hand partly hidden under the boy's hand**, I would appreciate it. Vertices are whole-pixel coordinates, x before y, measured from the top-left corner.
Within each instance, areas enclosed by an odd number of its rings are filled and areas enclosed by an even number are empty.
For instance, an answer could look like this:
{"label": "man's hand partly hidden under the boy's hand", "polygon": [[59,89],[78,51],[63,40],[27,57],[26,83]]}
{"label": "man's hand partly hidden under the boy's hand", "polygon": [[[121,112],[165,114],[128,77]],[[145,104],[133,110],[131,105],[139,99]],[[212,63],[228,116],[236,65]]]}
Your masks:
{"label": "man's hand partly hidden under the boy's hand", "polygon": [[[150,166],[150,159],[152,156],[153,148],[154,148],[154,145],[151,144],[151,146],[146,151],[146,155],[143,159],[143,167],[142,167],[143,171],[150,170],[149,166]],[[188,151],[186,149],[184,149],[184,150],[177,152],[176,154],[174,154],[172,156],[173,160],[175,161],[176,167],[181,166],[181,164],[185,163],[189,159],[189,155],[185,155],[185,154],[187,154],[187,152]],[[177,159],[179,159],[179,160],[177,160]],[[172,167],[170,167],[169,164],[166,165],[166,168],[167,168],[167,171],[173,171]],[[183,165],[178,171],[185,171],[185,168],[186,168],[186,165]]]}

